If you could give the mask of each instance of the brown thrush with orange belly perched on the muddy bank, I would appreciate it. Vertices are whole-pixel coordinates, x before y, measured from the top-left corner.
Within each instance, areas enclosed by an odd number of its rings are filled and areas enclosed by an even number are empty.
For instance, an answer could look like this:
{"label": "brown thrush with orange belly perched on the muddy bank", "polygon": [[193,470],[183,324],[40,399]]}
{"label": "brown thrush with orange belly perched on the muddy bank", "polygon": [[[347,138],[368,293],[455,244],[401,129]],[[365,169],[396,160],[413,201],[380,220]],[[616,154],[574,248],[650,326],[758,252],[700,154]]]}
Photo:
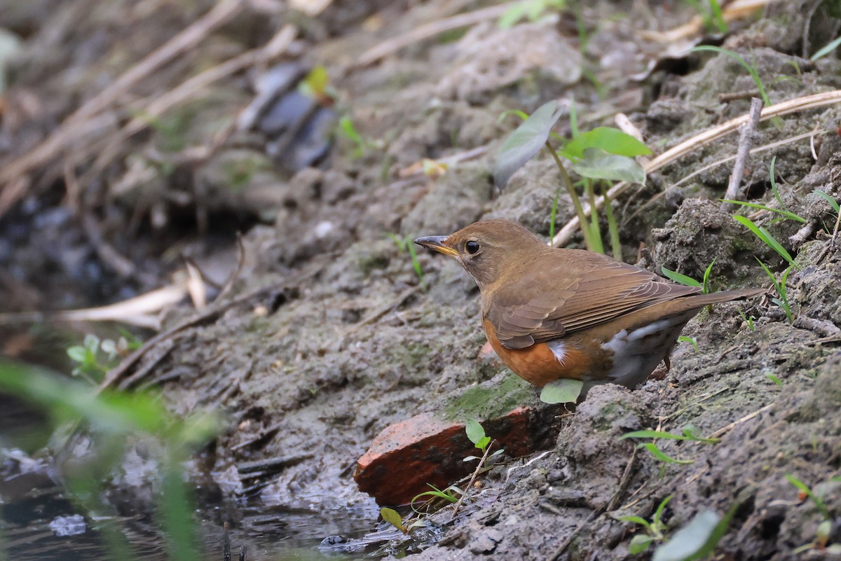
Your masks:
{"label": "brown thrush with orange belly perched on the muddy bank", "polygon": [[415,244],[455,257],[482,293],[484,332],[523,380],[560,378],[629,388],[665,360],[702,307],[756,296],[747,288],[701,294],[648,270],[582,249],[544,244],[507,220],[473,223]]}

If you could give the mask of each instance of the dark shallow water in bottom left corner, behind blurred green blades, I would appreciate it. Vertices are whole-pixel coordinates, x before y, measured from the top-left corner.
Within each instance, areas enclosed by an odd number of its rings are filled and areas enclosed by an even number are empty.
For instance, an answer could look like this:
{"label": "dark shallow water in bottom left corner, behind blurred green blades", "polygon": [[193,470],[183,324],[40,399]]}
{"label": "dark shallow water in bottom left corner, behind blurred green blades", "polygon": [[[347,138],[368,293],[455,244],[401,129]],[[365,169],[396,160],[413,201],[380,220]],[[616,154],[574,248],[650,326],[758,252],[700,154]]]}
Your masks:
{"label": "dark shallow water in bottom left corner, behind blurred green blades", "polygon": [[[44,462],[32,460],[17,449],[34,449],[33,444],[45,443],[49,438],[39,428],[39,417],[28,406],[0,396],[0,560],[169,559],[166,537],[151,512],[139,511],[126,501],[113,505],[115,511],[130,513],[119,518],[80,511],[50,477]],[[354,510],[290,511],[226,500],[217,489],[195,489],[194,494],[198,502],[195,520],[201,537],[200,558],[204,559],[223,559],[225,522],[230,526],[234,559],[239,558],[242,546],[246,547],[246,559],[361,558],[364,552],[320,550],[319,546],[331,536],[362,537],[373,529],[377,516],[373,502]],[[130,557],[108,549],[103,533],[103,527],[108,525],[116,525],[124,536]]]}

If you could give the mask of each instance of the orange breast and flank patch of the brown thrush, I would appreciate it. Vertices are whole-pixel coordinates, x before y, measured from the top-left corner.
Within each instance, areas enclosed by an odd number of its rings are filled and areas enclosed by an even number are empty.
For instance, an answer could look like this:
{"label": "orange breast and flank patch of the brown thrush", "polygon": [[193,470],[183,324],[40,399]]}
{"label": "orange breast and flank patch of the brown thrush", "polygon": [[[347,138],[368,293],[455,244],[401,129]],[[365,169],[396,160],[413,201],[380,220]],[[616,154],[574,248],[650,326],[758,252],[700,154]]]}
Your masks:
{"label": "orange breast and flank patch of the brown thrush", "polygon": [[488,320],[484,320],[483,324],[484,333],[496,354],[523,380],[542,387],[561,378],[590,378],[592,361],[574,345],[565,345],[561,360],[558,360],[547,343],[536,343],[526,349],[505,349],[496,337],[493,324]]}

